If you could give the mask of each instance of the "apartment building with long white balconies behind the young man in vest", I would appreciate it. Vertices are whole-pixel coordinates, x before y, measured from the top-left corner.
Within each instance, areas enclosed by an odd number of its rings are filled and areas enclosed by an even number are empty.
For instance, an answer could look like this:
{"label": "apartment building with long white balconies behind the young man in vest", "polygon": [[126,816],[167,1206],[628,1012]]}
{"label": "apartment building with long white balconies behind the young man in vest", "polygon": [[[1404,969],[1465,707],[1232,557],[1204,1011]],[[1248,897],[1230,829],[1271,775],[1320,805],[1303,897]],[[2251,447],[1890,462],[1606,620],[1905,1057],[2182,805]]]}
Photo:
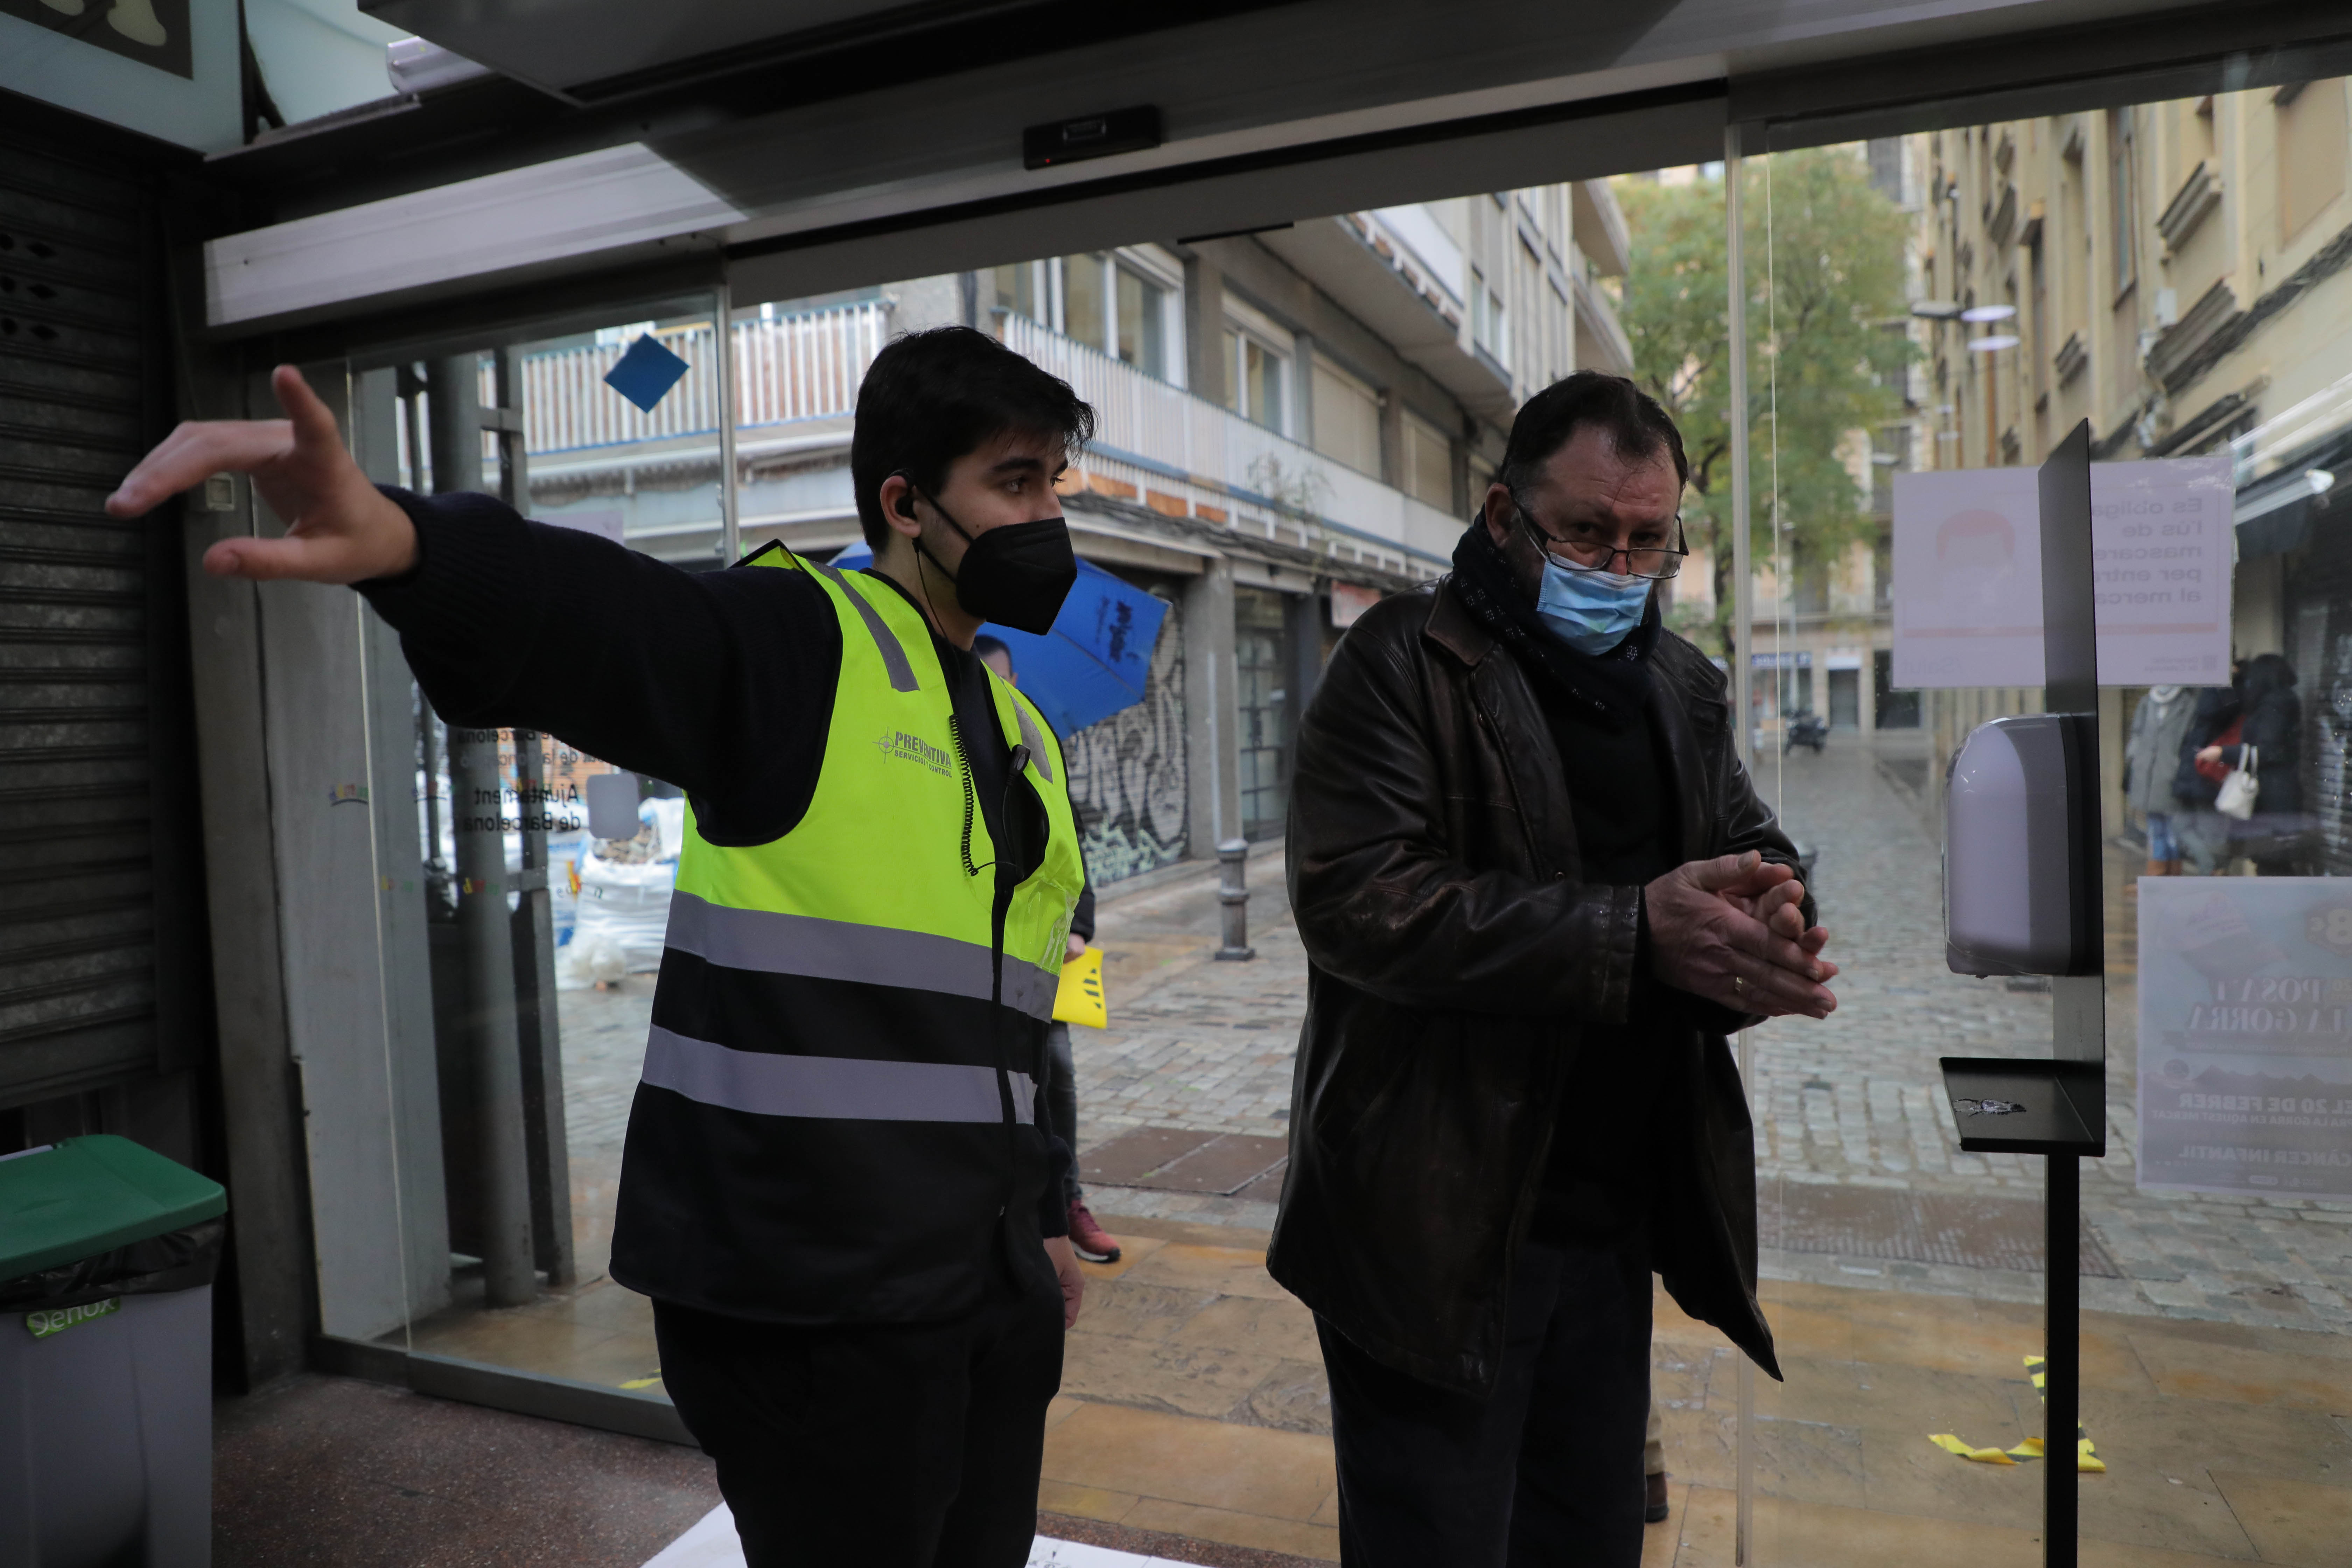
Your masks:
{"label": "apartment building with long white balconies behind the young man in vest", "polygon": [[[1096,409],[1065,482],[1080,555],[1176,607],[1145,701],[1073,738],[1096,877],[1277,837],[1329,644],[1449,567],[1524,397],[1578,367],[1630,369],[1602,284],[1625,254],[1616,200],[1588,181],[734,310],[739,550],[823,557],[858,538],[849,437],[882,343],[950,322],[1000,336]],[[477,397],[522,428],[536,517],[720,564],[713,320],[527,346],[503,395],[482,360]],[[652,409],[602,383],[642,336],[687,362]],[[423,376],[416,395],[400,430],[433,423]],[[402,444],[402,477],[435,484],[428,458],[428,440]],[[1232,675],[1188,682],[1204,663]]]}

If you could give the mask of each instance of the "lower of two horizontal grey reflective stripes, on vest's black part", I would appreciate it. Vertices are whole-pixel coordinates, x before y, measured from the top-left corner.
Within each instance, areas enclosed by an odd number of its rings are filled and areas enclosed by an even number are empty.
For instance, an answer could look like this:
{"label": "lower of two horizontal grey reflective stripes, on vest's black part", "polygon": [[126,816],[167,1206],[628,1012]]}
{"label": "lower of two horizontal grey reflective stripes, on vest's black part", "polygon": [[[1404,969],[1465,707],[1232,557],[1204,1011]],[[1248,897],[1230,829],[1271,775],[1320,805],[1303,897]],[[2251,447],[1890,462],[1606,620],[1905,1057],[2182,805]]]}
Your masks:
{"label": "lower of two horizontal grey reflective stripes, on vest's black part", "polygon": [[[654,1025],[644,1081],[722,1110],[833,1121],[1002,1121],[995,1067],[875,1063],[858,1056],[731,1051]],[[1014,1072],[1014,1117],[1030,1119],[1037,1084]]]}

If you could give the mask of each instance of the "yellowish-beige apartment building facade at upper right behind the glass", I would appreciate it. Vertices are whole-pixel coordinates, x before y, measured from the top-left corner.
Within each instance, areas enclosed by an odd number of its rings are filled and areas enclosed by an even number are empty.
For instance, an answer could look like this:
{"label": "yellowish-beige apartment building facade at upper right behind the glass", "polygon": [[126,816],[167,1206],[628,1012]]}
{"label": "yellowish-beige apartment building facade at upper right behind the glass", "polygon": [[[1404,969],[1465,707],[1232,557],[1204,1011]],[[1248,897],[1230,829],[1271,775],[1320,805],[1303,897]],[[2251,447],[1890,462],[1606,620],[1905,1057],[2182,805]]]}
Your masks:
{"label": "yellowish-beige apartment building facade at upper right behind the glass", "polygon": [[[2347,80],[2324,78],[1933,132],[1905,148],[1929,186],[1917,463],[2032,465],[2084,418],[2093,461],[2230,456],[2232,651],[2296,668],[2305,799],[2321,785],[2338,849],[2352,545],[2328,503],[2352,461],[2347,106]],[[1938,755],[2037,696],[1926,693]],[[2136,698],[2103,693],[2112,776]],[[2119,797],[2110,809],[2122,825]]]}

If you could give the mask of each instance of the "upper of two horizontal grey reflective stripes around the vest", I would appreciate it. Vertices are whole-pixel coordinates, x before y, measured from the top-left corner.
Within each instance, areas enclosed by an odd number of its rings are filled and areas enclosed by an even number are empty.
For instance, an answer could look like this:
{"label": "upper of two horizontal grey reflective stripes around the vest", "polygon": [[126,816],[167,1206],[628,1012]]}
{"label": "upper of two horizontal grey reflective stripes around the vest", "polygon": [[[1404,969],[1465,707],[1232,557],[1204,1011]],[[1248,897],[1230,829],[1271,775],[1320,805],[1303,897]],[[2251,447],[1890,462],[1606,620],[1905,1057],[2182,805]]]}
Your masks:
{"label": "upper of two horizontal grey reflective stripes around the vest", "polygon": [[[929,931],[861,926],[814,914],[731,910],[670,893],[668,945],[724,969],[915,990],[988,1001],[988,947]],[[1004,954],[1004,1006],[1051,1023],[1061,973]]]}

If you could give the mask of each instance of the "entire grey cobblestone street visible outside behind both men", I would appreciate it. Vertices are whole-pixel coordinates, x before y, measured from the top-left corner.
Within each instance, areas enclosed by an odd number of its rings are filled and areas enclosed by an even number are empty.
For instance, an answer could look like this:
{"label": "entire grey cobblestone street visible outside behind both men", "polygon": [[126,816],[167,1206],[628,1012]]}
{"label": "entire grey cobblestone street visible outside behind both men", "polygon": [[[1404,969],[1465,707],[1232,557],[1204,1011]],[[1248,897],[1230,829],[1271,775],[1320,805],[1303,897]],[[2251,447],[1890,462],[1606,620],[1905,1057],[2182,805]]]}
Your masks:
{"label": "entire grey cobblestone street visible outside behind both men", "polygon": [[[1940,1056],[2049,1051],[2049,997],[1943,964],[1940,872],[1903,773],[1912,738],[1882,741],[1898,759],[1839,738],[1820,757],[1764,757],[1766,795],[1818,849],[1816,886],[1830,954],[1844,966],[1839,1011],[1750,1034],[1757,1072],[1757,1164],[1771,1206],[1797,1185],[1893,1187],[1929,1194],[2039,1199],[2042,1161],[1962,1154],[1943,1098]],[[1924,762],[1924,752],[1917,752]],[[1919,766],[1907,769],[1919,773]],[[1167,877],[1167,875],[1162,875]],[[1138,1126],[1279,1138],[1289,1131],[1291,1058],[1305,1016],[1305,952],[1282,886],[1282,846],[1249,860],[1249,940],[1258,957],[1221,964],[1216,882],[1188,867],[1103,900],[1110,1030],[1075,1030],[1080,1150]],[[2122,914],[2117,914],[2122,910]],[[2129,922],[2122,889],[2110,926]],[[2352,1204],[2246,1201],[2133,1187],[2133,973],[2110,976],[2107,1159],[2084,1161],[2084,1215],[2122,1279],[2084,1279],[2084,1302],[2110,1312],[2249,1326],[2352,1331]],[[654,978],[612,992],[567,992],[564,1098],[581,1208],[583,1265],[602,1267],[602,1215],[644,1053]],[[1131,1218],[1268,1229],[1275,1206],[1197,1192],[1117,1187],[1098,1208]],[[1766,1255],[1766,1274],[1816,1284],[1926,1288],[1985,1300],[2037,1300],[2039,1274],[1889,1262],[1830,1253]]]}

